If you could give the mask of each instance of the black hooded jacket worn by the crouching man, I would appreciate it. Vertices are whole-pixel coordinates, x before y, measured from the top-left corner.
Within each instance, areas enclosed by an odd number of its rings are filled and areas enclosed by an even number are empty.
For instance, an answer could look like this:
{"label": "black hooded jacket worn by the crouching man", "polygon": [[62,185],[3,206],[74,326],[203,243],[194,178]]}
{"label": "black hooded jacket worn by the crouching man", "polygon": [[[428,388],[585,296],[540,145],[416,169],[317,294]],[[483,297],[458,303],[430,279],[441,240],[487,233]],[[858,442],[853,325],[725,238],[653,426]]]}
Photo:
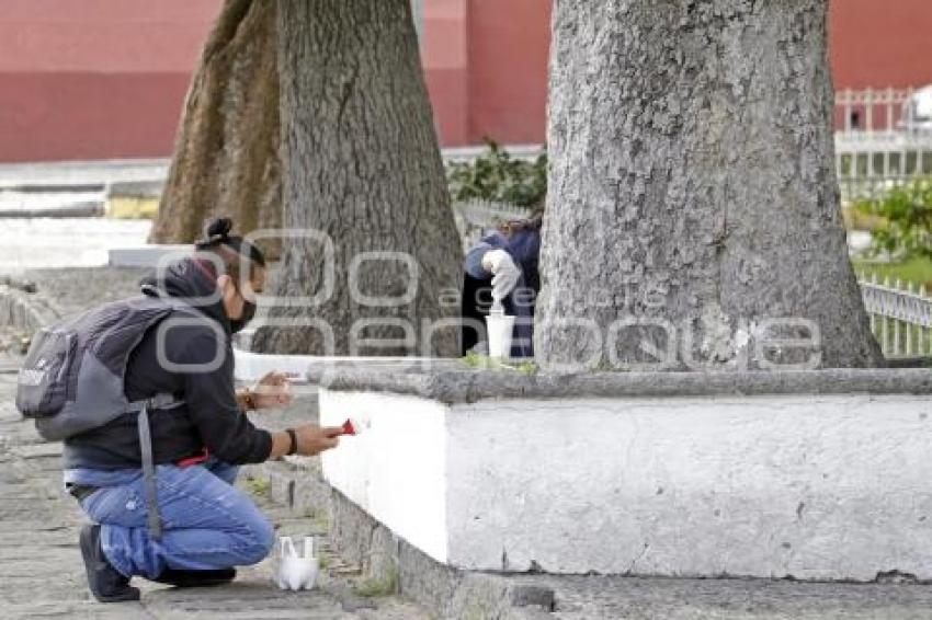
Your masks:
{"label": "black hooded jacket worn by the crouching man", "polygon": [[[124,390],[130,401],[170,392],[183,399],[174,409],[150,413],[155,462],[172,463],[203,453],[204,448],[230,464],[262,462],[272,450],[272,437],[255,428],[236,401],[230,323],[223,303],[197,305],[215,294],[216,280],[191,259],[172,263],[156,278],[141,280],[143,294],[182,298],[215,321],[172,326],[164,332],[166,359],[178,365],[221,363],[211,371],[181,371],[158,361],[156,329],[149,330],[130,354]],[[223,335],[223,337],[220,337]],[[214,364],[217,366],[217,364]],[[115,470],[140,467],[136,414],[65,441],[64,468]]]}

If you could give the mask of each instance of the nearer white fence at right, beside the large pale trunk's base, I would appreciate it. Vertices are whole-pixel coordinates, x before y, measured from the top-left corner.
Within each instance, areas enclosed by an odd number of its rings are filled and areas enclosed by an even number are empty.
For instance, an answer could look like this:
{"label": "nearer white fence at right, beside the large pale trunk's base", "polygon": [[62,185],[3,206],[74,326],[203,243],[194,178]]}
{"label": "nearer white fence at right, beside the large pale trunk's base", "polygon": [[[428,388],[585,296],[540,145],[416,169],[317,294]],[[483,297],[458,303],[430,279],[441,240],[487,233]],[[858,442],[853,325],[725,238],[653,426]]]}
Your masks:
{"label": "nearer white fence at right, beside the large pale trunk's base", "polygon": [[932,299],[924,285],[862,275],[871,330],[888,358],[932,355]]}

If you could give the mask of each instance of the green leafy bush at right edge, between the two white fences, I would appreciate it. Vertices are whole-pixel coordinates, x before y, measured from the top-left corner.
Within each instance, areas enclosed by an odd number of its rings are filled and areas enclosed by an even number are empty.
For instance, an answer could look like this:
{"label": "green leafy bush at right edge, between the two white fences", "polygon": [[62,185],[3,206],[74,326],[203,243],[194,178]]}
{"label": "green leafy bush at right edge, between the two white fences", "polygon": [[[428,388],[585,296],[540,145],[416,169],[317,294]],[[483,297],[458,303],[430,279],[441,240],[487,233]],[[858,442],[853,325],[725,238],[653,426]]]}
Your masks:
{"label": "green leafy bush at right edge, between the two white fences", "polygon": [[857,203],[855,209],[884,221],[871,231],[871,255],[932,257],[932,179],[894,187],[877,200]]}

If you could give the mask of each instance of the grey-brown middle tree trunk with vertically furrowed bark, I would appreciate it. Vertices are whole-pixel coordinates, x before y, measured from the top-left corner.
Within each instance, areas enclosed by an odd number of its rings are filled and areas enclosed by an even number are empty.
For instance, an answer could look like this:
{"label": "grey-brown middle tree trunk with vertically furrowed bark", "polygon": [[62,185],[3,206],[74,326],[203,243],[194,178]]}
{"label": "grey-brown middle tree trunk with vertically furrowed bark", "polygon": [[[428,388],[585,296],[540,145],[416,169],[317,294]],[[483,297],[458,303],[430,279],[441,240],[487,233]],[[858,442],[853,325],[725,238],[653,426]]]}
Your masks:
{"label": "grey-brown middle tree trunk with vertically furrowed bark", "polygon": [[[409,1],[282,0],[280,10],[284,226],[305,237],[283,242],[272,294],[318,302],[274,309],[273,320],[305,326],[260,329],[254,349],[456,355],[455,326],[422,337],[422,321],[456,310],[441,298],[458,290],[462,250]],[[321,234],[332,242],[330,260]],[[368,256],[354,283],[353,261],[364,252],[401,260]],[[353,284],[400,303],[351,295]],[[383,322],[364,328],[371,319]],[[411,342],[388,342],[402,336]],[[365,346],[360,337],[384,340]]]}

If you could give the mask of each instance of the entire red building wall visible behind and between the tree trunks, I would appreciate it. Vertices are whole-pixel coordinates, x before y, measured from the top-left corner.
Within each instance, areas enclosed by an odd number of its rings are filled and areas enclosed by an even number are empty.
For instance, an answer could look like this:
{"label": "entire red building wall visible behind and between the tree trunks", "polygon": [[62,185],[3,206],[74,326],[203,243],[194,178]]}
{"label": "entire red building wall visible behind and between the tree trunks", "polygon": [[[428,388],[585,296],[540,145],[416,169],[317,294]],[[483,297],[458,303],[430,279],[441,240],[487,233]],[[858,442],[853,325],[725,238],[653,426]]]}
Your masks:
{"label": "entire red building wall visible behind and between the tree trunks", "polygon": [[[166,157],[223,0],[2,0],[0,162]],[[550,0],[422,0],[444,146],[541,143]],[[932,0],[831,0],[834,85],[932,83]]]}

